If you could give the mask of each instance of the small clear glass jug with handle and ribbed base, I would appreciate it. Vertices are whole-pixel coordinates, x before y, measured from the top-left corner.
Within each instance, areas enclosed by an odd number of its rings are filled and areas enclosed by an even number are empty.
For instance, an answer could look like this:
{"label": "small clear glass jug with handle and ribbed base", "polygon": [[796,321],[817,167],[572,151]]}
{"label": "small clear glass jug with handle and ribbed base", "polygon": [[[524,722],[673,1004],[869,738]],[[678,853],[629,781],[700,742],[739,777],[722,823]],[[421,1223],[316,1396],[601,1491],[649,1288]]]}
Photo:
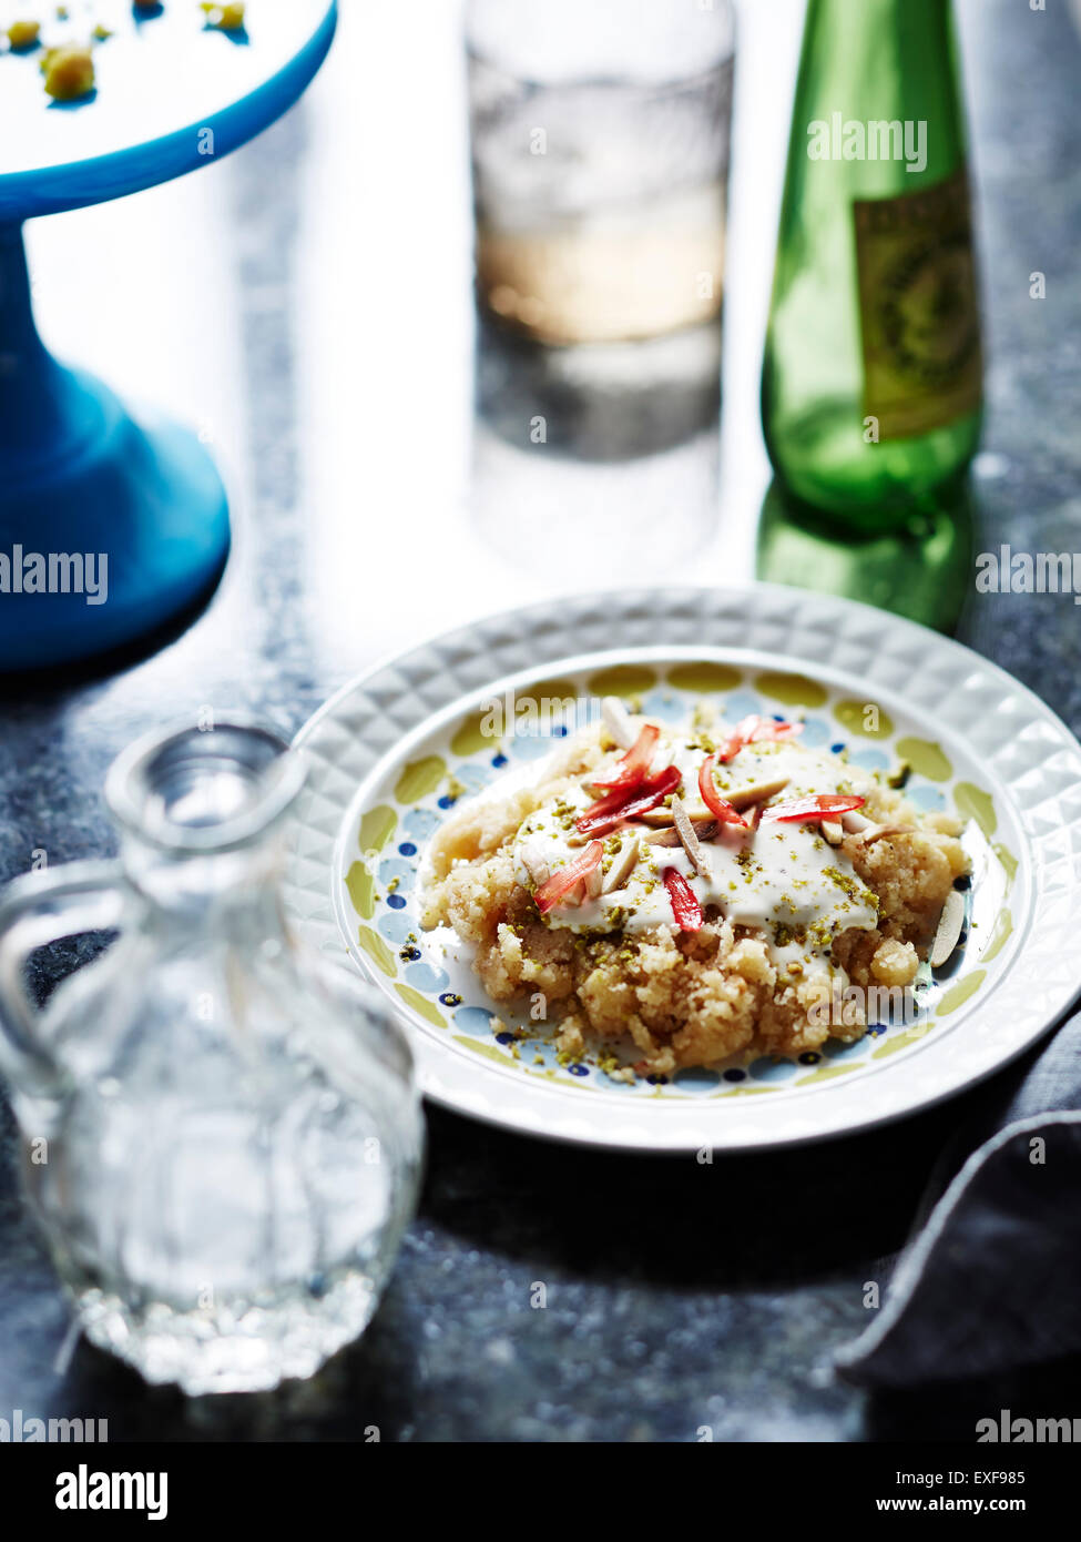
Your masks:
{"label": "small clear glass jug with handle and ribbed base", "polygon": [[[381,998],[308,953],[278,874],[301,757],[265,728],[156,732],[106,780],[119,862],[0,901],[0,1062],[83,1331],[150,1382],[253,1391],[362,1332],[423,1119]],[[119,941],[29,1001],[28,956]]]}

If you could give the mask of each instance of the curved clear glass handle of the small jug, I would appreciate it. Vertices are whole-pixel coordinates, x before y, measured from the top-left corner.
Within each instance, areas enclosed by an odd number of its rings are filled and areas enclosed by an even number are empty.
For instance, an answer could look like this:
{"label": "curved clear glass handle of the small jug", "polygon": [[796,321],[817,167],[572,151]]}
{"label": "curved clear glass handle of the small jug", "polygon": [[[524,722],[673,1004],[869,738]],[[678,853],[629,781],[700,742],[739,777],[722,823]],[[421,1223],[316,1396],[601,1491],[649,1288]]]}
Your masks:
{"label": "curved clear glass handle of the small jug", "polygon": [[56,1069],[26,992],[37,948],[83,931],[111,931],[126,905],[119,862],[68,862],[28,873],[0,893],[0,1070],[28,1096],[51,1095]]}

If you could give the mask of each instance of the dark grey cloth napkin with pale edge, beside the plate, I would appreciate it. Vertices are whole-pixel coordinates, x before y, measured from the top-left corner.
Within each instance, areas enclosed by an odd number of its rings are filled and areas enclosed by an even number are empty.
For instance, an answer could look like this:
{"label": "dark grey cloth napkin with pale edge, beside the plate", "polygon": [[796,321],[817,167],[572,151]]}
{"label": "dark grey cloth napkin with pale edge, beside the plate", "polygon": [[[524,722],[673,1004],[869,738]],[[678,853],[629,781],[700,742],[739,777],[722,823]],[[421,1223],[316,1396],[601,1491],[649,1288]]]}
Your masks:
{"label": "dark grey cloth napkin with pale edge, beside the plate", "polygon": [[836,1368],[901,1389],[1078,1352],[1081,1013],[944,1153],[877,1317]]}

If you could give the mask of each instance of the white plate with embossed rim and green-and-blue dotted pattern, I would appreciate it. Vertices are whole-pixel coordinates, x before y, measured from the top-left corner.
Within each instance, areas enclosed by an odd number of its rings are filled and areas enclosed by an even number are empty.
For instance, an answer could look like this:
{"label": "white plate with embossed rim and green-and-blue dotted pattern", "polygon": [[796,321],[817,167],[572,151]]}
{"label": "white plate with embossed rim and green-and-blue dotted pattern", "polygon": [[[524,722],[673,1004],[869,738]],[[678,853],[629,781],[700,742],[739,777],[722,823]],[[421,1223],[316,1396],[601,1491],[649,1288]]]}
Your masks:
{"label": "white plate with embossed rim and green-and-blue dotted pattern", "polygon": [[[688,712],[703,694],[736,715],[794,712],[808,743],[845,743],[867,765],[913,762],[908,796],[961,811],[973,856],[965,947],[928,981],[919,1016],[802,1062],[634,1087],[592,1066],[558,1066],[543,1044],[497,1036],[495,1010],[509,1029],[529,1018],[493,1008],[466,950],[419,930],[416,874],[458,783],[480,790],[529,776],[551,746],[544,736],[558,717],[541,731],[529,708],[514,708],[515,692],[520,702],[560,699],[563,682],[594,700],[637,694],[662,717]],[[504,726],[514,717],[515,731],[497,745],[484,732],[490,719],[478,719],[507,691]],[[1004,671],[870,606],[759,584],[620,591],[510,611],[345,686],[298,745],[310,774],[287,870],[295,924],[316,947],[349,953],[390,998],[426,1095],[492,1124],[669,1152],[839,1135],[990,1075],[1081,988],[1081,748]]]}

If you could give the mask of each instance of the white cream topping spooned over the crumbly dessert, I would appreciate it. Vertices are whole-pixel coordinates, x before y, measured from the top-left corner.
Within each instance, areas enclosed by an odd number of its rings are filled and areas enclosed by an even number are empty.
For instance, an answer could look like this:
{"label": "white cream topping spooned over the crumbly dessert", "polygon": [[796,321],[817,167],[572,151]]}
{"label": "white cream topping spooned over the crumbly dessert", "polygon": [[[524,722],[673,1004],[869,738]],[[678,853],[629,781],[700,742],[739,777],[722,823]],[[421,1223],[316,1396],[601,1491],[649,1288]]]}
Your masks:
{"label": "white cream topping spooned over the crumbly dessert", "polygon": [[[692,819],[709,817],[699,796],[699,766],[706,754],[706,748],[695,746],[692,732],[666,729],[652,759],[654,773],[666,765],[679,766],[683,776],[680,797]],[[584,780],[611,780],[618,774],[620,759],[618,751],[606,756]],[[746,745],[731,762],[714,768],[714,783],[722,797],[777,777],[788,777],[788,785],[765,802],[766,810],[793,797],[865,793],[873,785],[867,773],[836,756],[805,749],[796,740]],[[584,786],[578,785],[529,816],[515,839],[515,876],[520,884],[532,890],[537,885],[530,880],[530,868],[534,873],[555,873],[581,856],[583,837],[574,825],[592,802]],[[549,927],[581,933],[675,927],[669,893],[662,880],[665,868],[675,868],[686,879],[703,911],[717,905],[732,925],[762,928],[776,962],[820,958],[839,931],[848,927],[867,930],[877,924],[874,894],[814,823],[763,820],[754,833],[739,825],[722,825],[716,837],[702,842],[709,876],[695,873],[682,845],[648,845],[642,839],[649,834],[646,827],[634,823],[628,828],[640,837],[640,847],[626,882],[580,905],[555,905],[544,917]],[[617,857],[618,842],[626,836],[614,831],[598,839],[604,842],[608,871]]]}

